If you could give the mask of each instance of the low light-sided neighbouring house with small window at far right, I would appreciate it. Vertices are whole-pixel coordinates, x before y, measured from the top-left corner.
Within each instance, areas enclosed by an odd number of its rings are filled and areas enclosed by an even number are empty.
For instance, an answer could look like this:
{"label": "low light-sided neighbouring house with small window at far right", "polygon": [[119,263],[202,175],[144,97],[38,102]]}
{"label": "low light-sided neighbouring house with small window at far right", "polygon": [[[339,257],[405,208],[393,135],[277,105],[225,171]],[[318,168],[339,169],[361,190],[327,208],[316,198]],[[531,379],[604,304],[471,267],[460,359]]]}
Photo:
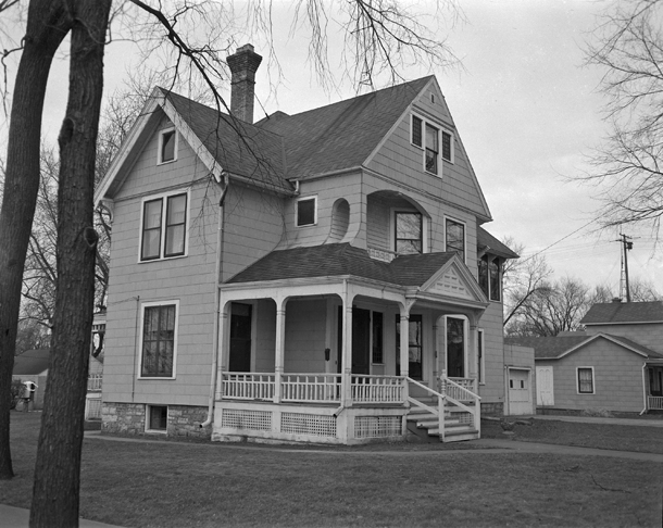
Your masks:
{"label": "low light-sided neighbouring house with small window at far right", "polygon": [[663,410],[663,303],[595,304],[585,331],[506,338],[535,350],[537,407]]}

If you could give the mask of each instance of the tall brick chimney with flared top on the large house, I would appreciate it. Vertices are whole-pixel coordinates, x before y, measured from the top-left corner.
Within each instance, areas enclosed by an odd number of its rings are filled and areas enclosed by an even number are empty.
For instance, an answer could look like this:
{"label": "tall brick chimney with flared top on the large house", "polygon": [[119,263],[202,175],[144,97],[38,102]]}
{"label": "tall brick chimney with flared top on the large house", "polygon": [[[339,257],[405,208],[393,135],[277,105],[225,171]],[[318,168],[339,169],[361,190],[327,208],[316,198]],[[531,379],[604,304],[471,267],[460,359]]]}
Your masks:
{"label": "tall brick chimney with flared top on the large house", "polygon": [[255,72],[262,56],[253,51],[253,46],[238,48],[234,55],[226,59],[233,73],[230,78],[230,112],[235,117],[253,123],[253,99]]}

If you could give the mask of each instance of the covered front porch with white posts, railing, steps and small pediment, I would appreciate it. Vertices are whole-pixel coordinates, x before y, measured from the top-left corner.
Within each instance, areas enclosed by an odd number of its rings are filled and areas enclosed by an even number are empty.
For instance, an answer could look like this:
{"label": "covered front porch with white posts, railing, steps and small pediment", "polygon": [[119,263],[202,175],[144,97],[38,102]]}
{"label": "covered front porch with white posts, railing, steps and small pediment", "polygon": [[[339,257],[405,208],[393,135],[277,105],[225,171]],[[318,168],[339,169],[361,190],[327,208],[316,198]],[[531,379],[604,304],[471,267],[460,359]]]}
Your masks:
{"label": "covered front porch with white posts, railing, steps and small pediment", "polygon": [[458,256],[440,261],[414,286],[374,269],[222,285],[212,439],[477,438],[486,302]]}

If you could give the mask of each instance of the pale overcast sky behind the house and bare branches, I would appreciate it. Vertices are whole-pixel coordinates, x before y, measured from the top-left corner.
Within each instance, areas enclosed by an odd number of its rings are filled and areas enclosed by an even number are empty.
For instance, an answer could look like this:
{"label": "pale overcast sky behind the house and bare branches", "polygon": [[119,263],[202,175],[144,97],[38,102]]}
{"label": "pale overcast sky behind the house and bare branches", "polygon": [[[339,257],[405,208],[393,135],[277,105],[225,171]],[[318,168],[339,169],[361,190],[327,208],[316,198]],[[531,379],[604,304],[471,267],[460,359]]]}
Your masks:
{"label": "pale overcast sky behind the house and bare branches", "polygon": [[[316,85],[305,62],[305,41],[298,35],[289,37],[284,22],[292,3],[275,2],[275,48],[284,81],[275,95],[267,75],[273,71],[261,66],[257,79],[257,96],[268,113],[297,113],[355,95],[355,87],[347,83],[333,93]],[[596,225],[590,223],[597,190],[566,183],[587,169],[586,155],[606,134],[597,91],[601,72],[583,66],[583,47],[591,38],[595,15],[606,3],[460,3],[466,22],[455,24],[446,36],[463,68],[431,72],[418,66],[403,74],[408,79],[437,76],[493,216],[484,227],[498,238],[512,236],[524,243],[525,257],[552,246],[545,254],[558,277],[618,288],[617,232],[593,232]],[[440,36],[447,30],[440,29]],[[246,39],[261,53],[258,39]],[[126,43],[109,47],[107,95],[130,67],[130,50]],[[64,64],[53,68],[49,86],[45,133],[53,139],[64,112]],[[257,106],[257,118],[260,112]],[[633,228],[625,232],[634,237],[631,277],[651,280],[663,291],[663,278],[656,279],[663,277],[663,260],[652,254],[651,234]]]}

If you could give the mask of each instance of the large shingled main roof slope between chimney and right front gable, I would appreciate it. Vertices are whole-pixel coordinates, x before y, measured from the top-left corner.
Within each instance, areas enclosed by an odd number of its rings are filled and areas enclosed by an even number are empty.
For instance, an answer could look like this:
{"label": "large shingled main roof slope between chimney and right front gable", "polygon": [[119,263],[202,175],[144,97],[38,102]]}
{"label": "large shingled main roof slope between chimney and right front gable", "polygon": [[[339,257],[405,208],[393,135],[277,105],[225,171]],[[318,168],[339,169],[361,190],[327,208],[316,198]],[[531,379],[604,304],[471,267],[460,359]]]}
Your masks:
{"label": "large shingled main roof slope between chimney and right front gable", "polygon": [[286,140],[288,179],[359,167],[433,76],[257,125]]}

